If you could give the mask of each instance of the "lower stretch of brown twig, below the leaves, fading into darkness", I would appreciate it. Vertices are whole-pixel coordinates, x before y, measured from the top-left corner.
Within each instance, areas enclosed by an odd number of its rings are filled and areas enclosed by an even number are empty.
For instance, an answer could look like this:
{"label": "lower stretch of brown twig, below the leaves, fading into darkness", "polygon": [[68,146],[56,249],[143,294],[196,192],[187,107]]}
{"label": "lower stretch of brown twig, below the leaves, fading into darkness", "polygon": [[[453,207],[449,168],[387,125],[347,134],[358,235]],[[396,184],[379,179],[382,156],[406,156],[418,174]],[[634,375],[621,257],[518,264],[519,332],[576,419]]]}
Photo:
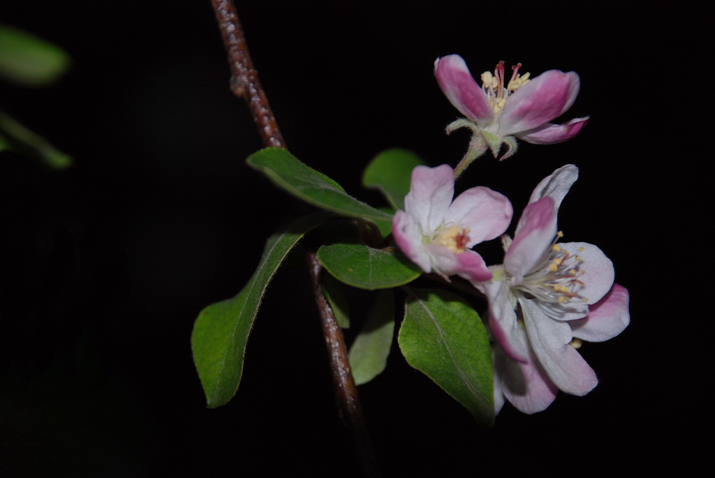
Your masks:
{"label": "lower stretch of brown twig, below the leaves, fading into darkness", "polygon": [[360,464],[363,476],[378,477],[378,462],[375,458],[373,444],[370,442],[368,427],[363,417],[363,407],[360,405],[358,387],[355,379],[352,378],[350,361],[347,359],[347,347],[345,338],[342,336],[342,329],[335,320],[335,314],[330,308],[330,304],[325,299],[322,292],[320,276],[322,274],[322,264],[315,252],[306,254],[308,267],[310,269],[310,282],[312,284],[315,302],[320,314],[320,324],[325,336],[325,346],[330,357],[330,369],[332,371],[332,384],[335,392],[337,409],[347,427],[352,432],[352,438],[358,449]]}

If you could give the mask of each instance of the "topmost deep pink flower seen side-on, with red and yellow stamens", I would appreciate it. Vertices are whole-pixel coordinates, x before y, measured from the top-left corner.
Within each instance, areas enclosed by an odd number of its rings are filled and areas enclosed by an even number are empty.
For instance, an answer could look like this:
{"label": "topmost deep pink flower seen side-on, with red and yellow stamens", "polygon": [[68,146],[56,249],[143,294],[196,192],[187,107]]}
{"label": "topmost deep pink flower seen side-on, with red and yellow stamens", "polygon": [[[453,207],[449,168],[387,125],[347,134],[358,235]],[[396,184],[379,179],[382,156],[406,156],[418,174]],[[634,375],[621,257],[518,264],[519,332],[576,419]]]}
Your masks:
{"label": "topmost deep pink flower seen side-on, with red and yellow stamens", "polygon": [[[459,55],[435,61],[435,76],[449,101],[467,119],[458,119],[447,131],[468,127],[473,131],[468,162],[483,154],[487,147],[497,157],[506,144],[506,159],[516,152],[516,139],[534,144],[553,144],[573,138],[588,122],[588,116],[565,124],[549,121],[561,116],[576,100],[581,84],[578,74],[549,70],[535,78],[518,73],[521,64],[512,66],[513,74],[505,85],[504,62],[494,74],[485,71],[479,86]],[[466,159],[466,156],[465,156]],[[458,168],[459,169],[459,168]]]}

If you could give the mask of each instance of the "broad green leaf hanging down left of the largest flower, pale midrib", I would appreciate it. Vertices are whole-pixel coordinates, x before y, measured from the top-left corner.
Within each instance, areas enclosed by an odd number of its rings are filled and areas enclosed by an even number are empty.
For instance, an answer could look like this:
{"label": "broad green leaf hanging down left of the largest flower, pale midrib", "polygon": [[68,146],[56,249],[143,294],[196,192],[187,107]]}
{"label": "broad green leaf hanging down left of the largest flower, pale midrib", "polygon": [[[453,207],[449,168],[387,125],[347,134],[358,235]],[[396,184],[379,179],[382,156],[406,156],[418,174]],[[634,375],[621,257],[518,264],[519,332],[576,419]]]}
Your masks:
{"label": "broad green leaf hanging down left of the largest flower, pale midrib", "polygon": [[408,363],[463,404],[480,427],[493,424],[489,337],[468,303],[437,289],[411,292],[398,344]]}

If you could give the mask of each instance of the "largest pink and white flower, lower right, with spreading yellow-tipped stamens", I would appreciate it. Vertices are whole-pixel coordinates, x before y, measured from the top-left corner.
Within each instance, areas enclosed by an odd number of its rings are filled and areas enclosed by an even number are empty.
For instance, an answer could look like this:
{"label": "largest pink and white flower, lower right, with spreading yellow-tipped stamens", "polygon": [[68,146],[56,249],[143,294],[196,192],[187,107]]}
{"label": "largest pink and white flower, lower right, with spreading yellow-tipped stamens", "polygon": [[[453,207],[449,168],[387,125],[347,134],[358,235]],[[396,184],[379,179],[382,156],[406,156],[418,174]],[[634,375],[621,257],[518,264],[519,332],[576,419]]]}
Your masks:
{"label": "largest pink and white flower, lower right, with spreading yellow-tipped stamens", "polygon": [[[475,283],[489,301],[495,403],[503,397],[525,413],[546,409],[557,389],[585,395],[596,373],[576,351],[581,339],[601,342],[628,326],[628,291],[613,284],[613,264],[586,242],[557,243],[556,213],[578,177],[563,166],[536,187],[506,239],[493,280]],[[503,394],[503,397],[502,397]]]}

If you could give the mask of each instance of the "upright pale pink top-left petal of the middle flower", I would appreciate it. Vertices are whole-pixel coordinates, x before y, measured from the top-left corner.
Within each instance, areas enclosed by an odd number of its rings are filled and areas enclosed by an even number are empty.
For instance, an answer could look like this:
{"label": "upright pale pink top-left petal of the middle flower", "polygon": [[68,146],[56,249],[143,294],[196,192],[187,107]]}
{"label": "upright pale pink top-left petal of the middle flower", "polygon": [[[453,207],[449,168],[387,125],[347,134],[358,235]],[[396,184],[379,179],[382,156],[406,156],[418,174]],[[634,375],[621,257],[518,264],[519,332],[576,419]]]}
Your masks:
{"label": "upright pale pink top-left petal of the middle flower", "polygon": [[435,168],[415,166],[405,211],[413,216],[423,234],[433,233],[443,224],[454,196],[454,171],[448,164]]}

